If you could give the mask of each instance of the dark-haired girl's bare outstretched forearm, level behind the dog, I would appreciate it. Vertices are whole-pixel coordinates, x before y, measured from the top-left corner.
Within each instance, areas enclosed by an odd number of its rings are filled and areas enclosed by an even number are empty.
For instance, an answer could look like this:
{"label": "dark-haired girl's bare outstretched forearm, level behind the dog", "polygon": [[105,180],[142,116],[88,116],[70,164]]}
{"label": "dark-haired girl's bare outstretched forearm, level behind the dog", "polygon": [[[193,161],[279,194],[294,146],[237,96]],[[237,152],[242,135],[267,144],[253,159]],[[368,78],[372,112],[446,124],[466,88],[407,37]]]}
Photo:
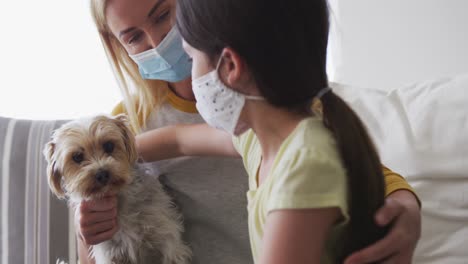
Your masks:
{"label": "dark-haired girl's bare outstretched forearm, level behind the dog", "polygon": [[232,136],[207,124],[154,129],[138,135],[136,144],[138,154],[145,162],[180,156],[239,157]]}

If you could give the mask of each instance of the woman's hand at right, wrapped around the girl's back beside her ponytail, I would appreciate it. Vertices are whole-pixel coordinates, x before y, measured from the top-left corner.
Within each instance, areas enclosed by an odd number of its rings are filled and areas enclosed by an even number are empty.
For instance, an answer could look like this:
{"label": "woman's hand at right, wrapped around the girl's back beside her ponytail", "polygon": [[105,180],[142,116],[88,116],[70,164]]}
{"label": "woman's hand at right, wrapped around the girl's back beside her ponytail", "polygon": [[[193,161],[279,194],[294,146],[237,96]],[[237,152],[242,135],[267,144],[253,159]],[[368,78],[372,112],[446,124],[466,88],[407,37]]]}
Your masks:
{"label": "woman's hand at right, wrapped around the girl's back beside her ponytail", "polygon": [[380,226],[393,223],[386,237],[349,256],[345,264],[411,263],[414,249],[421,236],[421,213],[413,193],[400,190],[390,194],[385,205],[376,213]]}

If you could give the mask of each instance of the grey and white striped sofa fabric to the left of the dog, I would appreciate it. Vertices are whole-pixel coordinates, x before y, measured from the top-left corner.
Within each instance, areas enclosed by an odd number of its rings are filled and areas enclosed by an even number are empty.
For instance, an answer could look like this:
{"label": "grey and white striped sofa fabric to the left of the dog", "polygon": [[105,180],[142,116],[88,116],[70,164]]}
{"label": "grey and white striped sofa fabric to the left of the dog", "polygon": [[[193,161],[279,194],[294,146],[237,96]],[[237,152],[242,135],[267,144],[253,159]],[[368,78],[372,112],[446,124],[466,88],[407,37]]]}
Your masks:
{"label": "grey and white striped sofa fabric to the left of the dog", "polygon": [[76,263],[71,211],[50,192],[42,155],[63,123],[0,117],[0,264]]}

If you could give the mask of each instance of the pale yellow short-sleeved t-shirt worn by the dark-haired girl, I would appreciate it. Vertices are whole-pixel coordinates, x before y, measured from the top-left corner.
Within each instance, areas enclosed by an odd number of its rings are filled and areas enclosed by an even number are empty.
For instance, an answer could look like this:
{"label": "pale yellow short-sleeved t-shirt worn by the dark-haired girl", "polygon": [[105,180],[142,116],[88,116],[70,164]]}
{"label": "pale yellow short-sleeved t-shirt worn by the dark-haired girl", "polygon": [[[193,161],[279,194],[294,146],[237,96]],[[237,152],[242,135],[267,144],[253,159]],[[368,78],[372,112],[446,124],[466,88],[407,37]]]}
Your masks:
{"label": "pale yellow short-sleeved t-shirt worn by the dark-haired girl", "polygon": [[331,230],[329,239],[335,241],[348,219],[346,172],[335,140],[321,119],[311,117],[297,125],[282,143],[260,187],[257,175],[262,152],[257,137],[249,130],[233,141],[249,175],[248,226],[254,261],[261,252],[267,215],[273,210],[337,207],[344,220]]}

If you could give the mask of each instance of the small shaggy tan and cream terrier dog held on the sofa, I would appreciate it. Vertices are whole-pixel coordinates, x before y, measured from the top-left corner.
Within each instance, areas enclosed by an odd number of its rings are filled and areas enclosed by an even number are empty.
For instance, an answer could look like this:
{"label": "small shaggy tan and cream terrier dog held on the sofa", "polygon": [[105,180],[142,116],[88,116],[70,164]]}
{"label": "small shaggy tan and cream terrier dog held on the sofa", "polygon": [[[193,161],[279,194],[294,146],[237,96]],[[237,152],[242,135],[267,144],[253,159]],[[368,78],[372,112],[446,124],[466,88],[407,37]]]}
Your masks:
{"label": "small shaggy tan and cream terrier dog held on the sofa", "polygon": [[114,193],[118,231],[92,246],[97,264],[186,264],[181,215],[157,177],[138,165],[125,115],[78,119],[54,131],[44,149],[52,192],[70,206]]}

